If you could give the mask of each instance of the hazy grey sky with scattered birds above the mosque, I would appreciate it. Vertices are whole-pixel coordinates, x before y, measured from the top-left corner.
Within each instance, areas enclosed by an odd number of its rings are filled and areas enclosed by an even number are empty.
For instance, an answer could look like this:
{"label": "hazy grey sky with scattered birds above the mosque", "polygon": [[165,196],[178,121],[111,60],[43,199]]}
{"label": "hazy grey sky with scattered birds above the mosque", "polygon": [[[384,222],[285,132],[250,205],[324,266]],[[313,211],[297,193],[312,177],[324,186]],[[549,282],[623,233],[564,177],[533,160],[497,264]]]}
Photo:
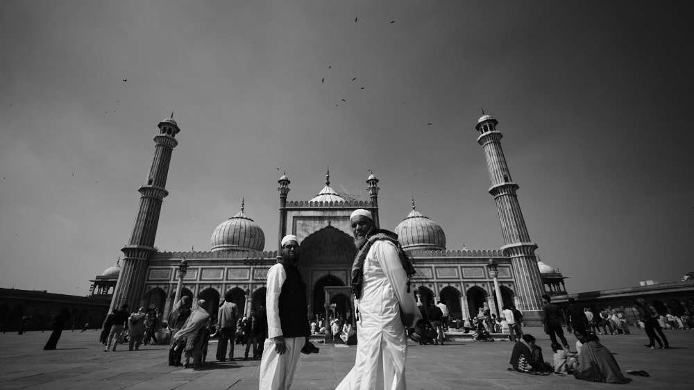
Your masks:
{"label": "hazy grey sky with scattered birds above the mosque", "polygon": [[[530,237],[570,293],[694,271],[686,1],[1,1],[0,287],[87,295],[127,244],[157,124],[155,246],[248,217],[276,248],[324,185],[448,249],[504,245],[475,124],[498,119]],[[127,80],[127,81],[126,81]],[[683,130],[684,129],[684,130]]]}

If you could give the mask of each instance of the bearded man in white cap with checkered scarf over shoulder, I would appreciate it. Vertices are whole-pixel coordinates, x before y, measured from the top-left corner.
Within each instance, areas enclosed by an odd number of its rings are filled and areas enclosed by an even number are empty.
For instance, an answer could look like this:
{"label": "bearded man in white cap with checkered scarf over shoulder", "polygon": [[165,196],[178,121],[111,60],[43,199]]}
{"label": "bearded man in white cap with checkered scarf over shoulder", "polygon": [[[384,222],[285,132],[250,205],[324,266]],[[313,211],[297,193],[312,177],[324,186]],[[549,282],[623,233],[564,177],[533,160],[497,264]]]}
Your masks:
{"label": "bearded man in white cap with checkered scarf over shoulder", "polygon": [[405,389],[405,329],[421,319],[408,284],[414,269],[398,235],[376,229],[371,212],[355,210],[350,223],[358,250],[351,280],[356,298],[357,358],[337,389]]}

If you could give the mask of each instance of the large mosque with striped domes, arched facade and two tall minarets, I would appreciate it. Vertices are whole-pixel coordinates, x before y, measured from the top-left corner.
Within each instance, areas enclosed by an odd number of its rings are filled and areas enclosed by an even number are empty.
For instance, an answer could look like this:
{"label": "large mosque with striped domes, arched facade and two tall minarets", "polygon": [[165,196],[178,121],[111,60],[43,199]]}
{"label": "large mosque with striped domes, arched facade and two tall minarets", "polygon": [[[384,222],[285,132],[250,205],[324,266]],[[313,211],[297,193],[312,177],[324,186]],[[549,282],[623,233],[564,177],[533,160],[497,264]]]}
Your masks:
{"label": "large mosque with striped domes, arched facade and two tall minarets", "polygon": [[[436,222],[417,210],[412,211],[394,230],[412,257],[416,275],[412,287],[416,298],[427,305],[441,300],[455,318],[475,316],[485,304],[498,313],[502,305],[515,305],[529,323],[539,321],[542,294],[566,296],[564,276],[544,264],[534,254],[516,190],[518,185],[501,148],[498,121],[483,115],[475,126],[489,171],[489,193],[498,207],[503,245],[500,248],[468,249],[462,243],[450,245]],[[171,153],[178,145],[178,124],[171,118],[158,125],[155,154],[142,194],[135,226],[128,244],[121,251],[122,266],[116,264],[93,280],[98,294],[112,294],[111,307],[127,303],[130,307],[154,306],[168,312],[174,305],[179,264],[185,260],[182,296],[204,299],[208,309],[216,310],[220,297],[230,291],[235,302],[250,312],[264,304],[266,273],[276,263],[278,251],[266,251],[264,230],[246,214],[244,204],[234,217],[212,230],[209,251],[167,252],[154,246],[162,201],[169,193],[166,180]],[[352,311],[349,273],[357,249],[349,217],[357,208],[369,210],[379,223],[378,178],[366,178],[369,201],[345,198],[325,187],[309,200],[291,200],[291,181],[279,180],[278,240],[294,234],[301,243],[301,273],[307,285],[311,315],[333,312],[346,317]],[[455,245],[459,244],[458,247]],[[279,248],[279,242],[271,244]],[[461,247],[462,246],[462,247]]]}

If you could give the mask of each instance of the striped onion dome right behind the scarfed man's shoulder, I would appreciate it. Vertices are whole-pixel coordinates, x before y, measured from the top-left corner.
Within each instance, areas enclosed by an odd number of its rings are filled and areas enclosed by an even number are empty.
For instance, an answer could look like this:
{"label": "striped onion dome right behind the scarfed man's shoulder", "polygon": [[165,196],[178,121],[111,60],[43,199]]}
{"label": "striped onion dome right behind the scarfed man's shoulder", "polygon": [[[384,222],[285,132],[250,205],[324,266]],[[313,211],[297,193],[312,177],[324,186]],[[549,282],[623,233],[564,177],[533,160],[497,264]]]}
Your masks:
{"label": "striped onion dome right behind the scarfed man's shoulder", "polygon": [[438,223],[425,217],[414,208],[407,218],[395,228],[400,245],[403,249],[413,251],[415,249],[428,249],[443,251],[446,249],[446,235]]}

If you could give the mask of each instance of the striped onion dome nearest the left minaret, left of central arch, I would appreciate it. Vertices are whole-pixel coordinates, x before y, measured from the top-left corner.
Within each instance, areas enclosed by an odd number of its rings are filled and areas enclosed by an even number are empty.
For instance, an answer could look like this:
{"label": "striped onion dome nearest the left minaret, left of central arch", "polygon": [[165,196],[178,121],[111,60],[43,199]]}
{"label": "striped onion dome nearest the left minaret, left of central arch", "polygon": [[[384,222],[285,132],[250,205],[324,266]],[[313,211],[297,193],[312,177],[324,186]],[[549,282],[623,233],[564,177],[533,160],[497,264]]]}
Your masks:
{"label": "striped onion dome nearest the left minaret, left of central arch", "polygon": [[265,233],[253,219],[246,217],[244,205],[234,217],[222,222],[212,232],[212,252],[262,251]]}

